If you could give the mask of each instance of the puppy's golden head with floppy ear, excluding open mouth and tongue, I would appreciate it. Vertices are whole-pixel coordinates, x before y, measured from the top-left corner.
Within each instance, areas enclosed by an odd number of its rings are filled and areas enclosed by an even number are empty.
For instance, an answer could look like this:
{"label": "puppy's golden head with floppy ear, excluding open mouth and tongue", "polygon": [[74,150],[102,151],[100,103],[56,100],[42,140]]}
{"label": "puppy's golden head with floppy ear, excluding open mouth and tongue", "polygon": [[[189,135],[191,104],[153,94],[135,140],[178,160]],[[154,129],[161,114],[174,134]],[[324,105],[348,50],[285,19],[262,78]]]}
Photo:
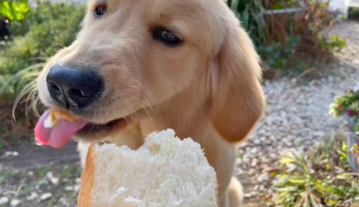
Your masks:
{"label": "puppy's golden head with floppy ear, excluding open mouth and tongue", "polygon": [[106,126],[192,87],[191,101],[238,141],[262,115],[258,61],[222,0],[90,0],[77,39],[43,68],[39,97]]}

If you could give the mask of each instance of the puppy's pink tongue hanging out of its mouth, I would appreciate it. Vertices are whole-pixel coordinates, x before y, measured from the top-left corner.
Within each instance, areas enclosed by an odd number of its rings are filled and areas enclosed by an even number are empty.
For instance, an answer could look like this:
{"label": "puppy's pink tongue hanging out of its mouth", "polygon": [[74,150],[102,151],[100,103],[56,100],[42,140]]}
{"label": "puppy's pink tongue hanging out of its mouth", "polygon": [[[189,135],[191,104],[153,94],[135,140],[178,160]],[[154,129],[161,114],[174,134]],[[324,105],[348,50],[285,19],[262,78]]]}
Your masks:
{"label": "puppy's pink tongue hanging out of its mouth", "polygon": [[62,148],[65,146],[71,137],[87,124],[87,122],[83,120],[71,124],[61,119],[52,128],[46,128],[43,124],[49,115],[48,110],[43,112],[43,115],[41,115],[39,121],[37,121],[34,131],[35,138],[40,144],[50,145],[53,148]]}

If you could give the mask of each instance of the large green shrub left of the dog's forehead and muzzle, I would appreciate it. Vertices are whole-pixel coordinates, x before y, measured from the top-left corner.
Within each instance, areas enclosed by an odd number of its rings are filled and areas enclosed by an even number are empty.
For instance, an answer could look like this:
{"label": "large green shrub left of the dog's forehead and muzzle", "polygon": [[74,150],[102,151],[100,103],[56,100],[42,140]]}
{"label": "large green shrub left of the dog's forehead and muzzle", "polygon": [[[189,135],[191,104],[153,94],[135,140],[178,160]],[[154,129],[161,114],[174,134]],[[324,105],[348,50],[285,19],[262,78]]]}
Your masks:
{"label": "large green shrub left of the dog's forehead and muzzle", "polygon": [[38,1],[23,21],[11,21],[10,38],[0,44],[0,86],[8,85],[12,78],[21,81],[0,89],[1,99],[12,101],[21,90],[26,92],[35,87],[34,84],[26,87],[26,82],[34,79],[41,63],[75,39],[84,12],[84,6],[74,3]]}

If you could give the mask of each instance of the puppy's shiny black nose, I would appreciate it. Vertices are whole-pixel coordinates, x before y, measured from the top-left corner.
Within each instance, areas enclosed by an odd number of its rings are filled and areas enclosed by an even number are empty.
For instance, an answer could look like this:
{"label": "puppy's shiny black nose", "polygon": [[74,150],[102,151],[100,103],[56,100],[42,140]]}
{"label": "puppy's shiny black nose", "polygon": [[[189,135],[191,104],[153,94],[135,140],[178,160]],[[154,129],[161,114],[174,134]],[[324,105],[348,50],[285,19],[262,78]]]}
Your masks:
{"label": "puppy's shiny black nose", "polygon": [[52,99],[61,106],[79,108],[95,101],[103,89],[103,81],[93,70],[70,66],[53,66],[46,77]]}

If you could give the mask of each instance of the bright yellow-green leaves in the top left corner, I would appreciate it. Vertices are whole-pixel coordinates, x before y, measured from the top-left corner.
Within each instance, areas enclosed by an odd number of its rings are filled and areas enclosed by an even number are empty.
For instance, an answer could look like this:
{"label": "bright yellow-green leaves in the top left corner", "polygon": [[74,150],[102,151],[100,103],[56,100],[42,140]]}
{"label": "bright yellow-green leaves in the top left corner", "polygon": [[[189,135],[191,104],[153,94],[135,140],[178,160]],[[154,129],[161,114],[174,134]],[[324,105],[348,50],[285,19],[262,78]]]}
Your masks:
{"label": "bright yellow-green leaves in the top left corner", "polygon": [[10,21],[21,21],[25,18],[30,5],[28,0],[1,0],[0,15]]}

